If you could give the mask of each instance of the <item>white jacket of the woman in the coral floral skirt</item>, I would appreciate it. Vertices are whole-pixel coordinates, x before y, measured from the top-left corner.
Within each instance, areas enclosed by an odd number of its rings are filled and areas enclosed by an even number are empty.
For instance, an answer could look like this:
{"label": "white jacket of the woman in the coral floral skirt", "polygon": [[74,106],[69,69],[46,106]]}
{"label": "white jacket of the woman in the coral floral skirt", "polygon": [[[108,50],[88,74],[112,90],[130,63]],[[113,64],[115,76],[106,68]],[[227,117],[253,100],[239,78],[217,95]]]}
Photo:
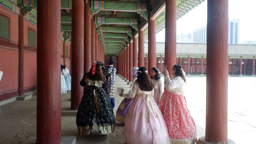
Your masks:
{"label": "white jacket of the woman in the coral floral skirt", "polygon": [[165,85],[167,91],[173,92],[178,95],[184,95],[184,80],[178,76],[170,79],[169,75],[164,77]]}

